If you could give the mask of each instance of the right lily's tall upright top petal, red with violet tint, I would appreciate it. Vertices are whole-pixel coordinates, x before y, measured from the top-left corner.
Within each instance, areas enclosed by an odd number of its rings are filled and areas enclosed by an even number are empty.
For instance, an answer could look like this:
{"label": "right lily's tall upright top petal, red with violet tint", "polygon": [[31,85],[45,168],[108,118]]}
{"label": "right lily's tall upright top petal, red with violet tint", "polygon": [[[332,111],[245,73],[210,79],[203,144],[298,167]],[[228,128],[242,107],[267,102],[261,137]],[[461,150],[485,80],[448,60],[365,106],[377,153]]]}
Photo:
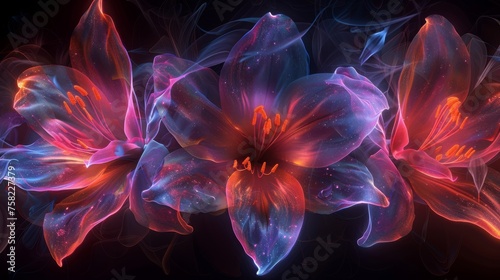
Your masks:
{"label": "right lily's tall upright top petal, red with violet tint", "polygon": [[405,122],[409,139],[422,143],[435,121],[429,116],[448,97],[464,101],[470,80],[470,56],[462,38],[444,17],[427,17],[406,52],[399,78],[402,118],[398,120]]}

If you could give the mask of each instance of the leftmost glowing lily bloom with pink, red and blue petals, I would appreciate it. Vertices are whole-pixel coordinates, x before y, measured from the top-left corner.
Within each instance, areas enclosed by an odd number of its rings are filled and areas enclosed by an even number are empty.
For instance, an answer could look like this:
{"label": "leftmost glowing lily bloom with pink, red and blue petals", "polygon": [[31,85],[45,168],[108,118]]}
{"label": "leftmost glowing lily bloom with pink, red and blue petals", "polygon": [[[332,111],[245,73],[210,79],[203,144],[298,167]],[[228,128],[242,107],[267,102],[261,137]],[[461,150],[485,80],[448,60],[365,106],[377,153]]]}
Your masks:
{"label": "leftmost glowing lily bloom with pink, red and blue petals", "polygon": [[18,187],[66,195],[43,221],[54,260],[62,266],[87,233],[127,201],[143,226],[191,232],[177,211],[140,197],[168,150],[152,140],[153,100],[139,109],[129,56],[100,0],[82,16],[69,53],[72,67],[36,66],[19,76],[14,109],[40,139],[2,156],[14,166]]}

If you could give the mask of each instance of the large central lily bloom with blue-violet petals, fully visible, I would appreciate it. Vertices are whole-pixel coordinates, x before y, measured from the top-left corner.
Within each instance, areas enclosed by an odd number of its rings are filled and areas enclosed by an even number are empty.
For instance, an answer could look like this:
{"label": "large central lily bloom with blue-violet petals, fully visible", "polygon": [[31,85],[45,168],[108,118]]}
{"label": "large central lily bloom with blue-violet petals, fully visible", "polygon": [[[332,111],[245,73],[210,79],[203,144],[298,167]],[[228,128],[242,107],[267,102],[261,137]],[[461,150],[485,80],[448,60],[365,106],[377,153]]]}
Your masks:
{"label": "large central lily bloom with blue-violet petals, fully visible", "polygon": [[220,76],[170,54],[153,68],[156,107],[183,149],[165,158],[143,198],[187,213],[227,208],[258,275],[289,253],[306,210],[388,206],[367,168],[348,157],[387,109],[385,96],[350,67],[309,75],[290,18],[260,18]]}

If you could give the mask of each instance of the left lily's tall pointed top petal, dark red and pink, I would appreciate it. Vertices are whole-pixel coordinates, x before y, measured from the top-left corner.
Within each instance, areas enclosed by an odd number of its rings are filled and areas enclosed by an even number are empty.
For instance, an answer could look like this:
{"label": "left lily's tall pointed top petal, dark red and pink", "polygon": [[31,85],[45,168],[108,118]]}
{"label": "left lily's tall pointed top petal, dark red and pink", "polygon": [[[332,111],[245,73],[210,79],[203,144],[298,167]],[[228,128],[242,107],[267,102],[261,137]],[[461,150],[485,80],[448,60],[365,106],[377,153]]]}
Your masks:
{"label": "left lily's tall pointed top petal, dark red and pink", "polygon": [[[132,66],[113,20],[94,0],[73,31],[71,65],[87,75],[113,104],[129,139],[141,137],[137,100],[132,90]],[[123,139],[123,138],[120,138]]]}

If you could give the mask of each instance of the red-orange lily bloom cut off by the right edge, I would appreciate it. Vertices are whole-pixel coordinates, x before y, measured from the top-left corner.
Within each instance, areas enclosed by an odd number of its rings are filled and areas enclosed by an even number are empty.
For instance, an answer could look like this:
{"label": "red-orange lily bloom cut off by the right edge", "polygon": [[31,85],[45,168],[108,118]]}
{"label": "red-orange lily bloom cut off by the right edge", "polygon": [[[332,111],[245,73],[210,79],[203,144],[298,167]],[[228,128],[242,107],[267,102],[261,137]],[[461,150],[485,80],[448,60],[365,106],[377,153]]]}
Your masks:
{"label": "red-orange lily bloom cut off by the right edge", "polygon": [[497,51],[461,38],[433,15],[411,42],[398,87],[391,153],[412,168],[415,193],[437,214],[500,238],[500,175],[487,164],[500,150]]}

